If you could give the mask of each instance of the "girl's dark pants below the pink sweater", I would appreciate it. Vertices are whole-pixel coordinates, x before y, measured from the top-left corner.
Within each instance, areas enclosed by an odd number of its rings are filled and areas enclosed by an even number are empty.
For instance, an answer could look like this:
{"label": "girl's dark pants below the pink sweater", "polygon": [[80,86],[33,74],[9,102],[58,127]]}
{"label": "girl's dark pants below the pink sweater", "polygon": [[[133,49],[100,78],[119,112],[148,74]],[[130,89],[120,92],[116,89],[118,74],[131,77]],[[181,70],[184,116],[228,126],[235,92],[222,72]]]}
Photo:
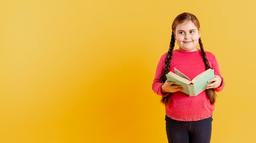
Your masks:
{"label": "girl's dark pants below the pink sweater", "polygon": [[212,117],[200,121],[166,120],[166,133],[169,143],[210,143]]}

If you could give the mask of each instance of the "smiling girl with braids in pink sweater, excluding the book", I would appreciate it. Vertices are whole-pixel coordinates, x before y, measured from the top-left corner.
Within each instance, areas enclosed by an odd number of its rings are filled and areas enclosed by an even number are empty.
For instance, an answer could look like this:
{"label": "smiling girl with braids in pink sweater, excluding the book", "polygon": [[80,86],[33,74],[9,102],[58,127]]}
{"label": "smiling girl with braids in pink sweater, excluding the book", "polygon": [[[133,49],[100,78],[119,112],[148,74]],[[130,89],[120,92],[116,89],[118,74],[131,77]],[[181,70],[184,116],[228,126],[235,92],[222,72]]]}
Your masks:
{"label": "smiling girl with braids in pink sweater, excluding the book", "polygon": [[[169,143],[210,143],[211,122],[216,100],[215,91],[222,91],[224,80],[216,57],[204,51],[200,24],[191,13],[182,13],[173,21],[170,48],[157,65],[153,91],[162,96],[166,110],[166,133]],[[175,40],[179,49],[174,49]],[[196,47],[200,45],[200,50]],[[207,89],[196,97],[181,91],[180,85],[168,82],[166,75],[174,67],[193,79],[206,69],[214,69],[214,78]]]}

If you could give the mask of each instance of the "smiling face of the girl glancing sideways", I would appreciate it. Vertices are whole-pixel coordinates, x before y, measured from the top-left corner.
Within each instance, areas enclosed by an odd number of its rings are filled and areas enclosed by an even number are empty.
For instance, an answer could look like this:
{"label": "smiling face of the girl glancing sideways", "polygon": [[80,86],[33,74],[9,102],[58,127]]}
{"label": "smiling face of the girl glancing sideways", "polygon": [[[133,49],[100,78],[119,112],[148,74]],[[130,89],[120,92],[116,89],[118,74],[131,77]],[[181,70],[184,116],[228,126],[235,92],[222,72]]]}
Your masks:
{"label": "smiling face of the girl glancing sideways", "polygon": [[201,35],[201,30],[198,29],[191,20],[178,24],[174,37],[179,45],[179,50],[186,52],[197,51],[198,39]]}

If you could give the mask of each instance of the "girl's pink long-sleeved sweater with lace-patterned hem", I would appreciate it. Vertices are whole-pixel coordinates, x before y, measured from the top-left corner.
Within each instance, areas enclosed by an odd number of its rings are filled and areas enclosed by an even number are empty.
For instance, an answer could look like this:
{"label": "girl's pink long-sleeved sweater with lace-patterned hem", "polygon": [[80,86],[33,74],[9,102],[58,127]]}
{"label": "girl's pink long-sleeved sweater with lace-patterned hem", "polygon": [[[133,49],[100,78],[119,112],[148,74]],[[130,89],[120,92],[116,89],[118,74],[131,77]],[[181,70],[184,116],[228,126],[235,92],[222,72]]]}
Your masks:
{"label": "girl's pink long-sleeved sweater with lace-patterned hem", "polygon": [[[211,52],[205,52],[209,65],[214,69],[215,74],[222,78],[216,57]],[[164,60],[166,56],[167,53],[160,58],[152,85],[153,91],[161,96],[168,95],[168,93],[162,93],[161,86],[164,83],[159,82],[159,77],[164,73]],[[170,71],[174,72],[174,67],[192,80],[195,76],[205,71],[202,52],[200,50],[195,52],[174,50]],[[220,87],[216,88],[215,91],[222,91],[224,86],[225,83],[222,78]],[[165,107],[166,115],[171,119],[178,121],[198,121],[213,115],[214,105],[210,104],[206,91],[203,91],[196,97],[189,97],[189,95],[177,91],[171,95],[171,99],[171,102]]]}

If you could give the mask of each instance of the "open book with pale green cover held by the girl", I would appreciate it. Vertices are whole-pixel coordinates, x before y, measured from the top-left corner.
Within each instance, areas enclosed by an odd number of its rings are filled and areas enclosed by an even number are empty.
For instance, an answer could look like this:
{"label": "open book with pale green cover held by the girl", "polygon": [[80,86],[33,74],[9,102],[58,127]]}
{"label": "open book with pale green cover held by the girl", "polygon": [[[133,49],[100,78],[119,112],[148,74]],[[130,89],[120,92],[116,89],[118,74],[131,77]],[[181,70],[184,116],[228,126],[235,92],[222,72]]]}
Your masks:
{"label": "open book with pale green cover held by the girl", "polygon": [[208,80],[211,80],[214,78],[214,69],[207,69],[206,71],[202,72],[201,74],[198,74],[193,78],[193,80],[190,80],[189,77],[182,74],[179,70],[174,68],[173,72],[169,72],[166,74],[166,77],[169,82],[173,81],[175,82],[175,85],[180,85],[184,89],[183,93],[186,93],[190,97],[197,96],[199,93],[204,91],[207,88],[207,85],[209,85],[212,82],[208,82]]}

